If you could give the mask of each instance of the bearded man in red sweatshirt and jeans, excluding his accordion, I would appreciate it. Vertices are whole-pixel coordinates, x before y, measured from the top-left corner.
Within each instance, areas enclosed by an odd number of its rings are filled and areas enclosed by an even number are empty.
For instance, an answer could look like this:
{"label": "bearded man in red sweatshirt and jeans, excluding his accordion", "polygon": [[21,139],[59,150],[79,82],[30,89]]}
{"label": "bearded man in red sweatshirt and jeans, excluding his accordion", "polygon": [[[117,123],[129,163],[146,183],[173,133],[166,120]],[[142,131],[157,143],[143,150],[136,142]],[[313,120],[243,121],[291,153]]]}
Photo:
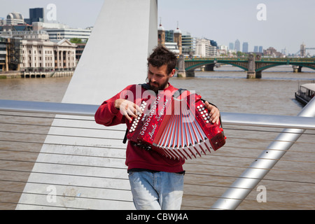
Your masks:
{"label": "bearded man in red sweatshirt and jeans, excluding his accordion", "polygon": [[[143,113],[141,99],[146,92],[173,94],[178,89],[169,83],[175,73],[176,55],[165,47],[158,47],[148,57],[148,77],[145,85],[129,85],[111,99],[106,100],[95,113],[100,125],[112,126],[125,123],[127,130],[131,121]],[[131,97],[132,96],[132,97]],[[205,102],[209,121],[219,123],[220,112]],[[126,151],[134,205],[136,209],[181,209],[183,196],[183,164],[185,160],[174,160],[157,153],[146,151],[128,141]]]}

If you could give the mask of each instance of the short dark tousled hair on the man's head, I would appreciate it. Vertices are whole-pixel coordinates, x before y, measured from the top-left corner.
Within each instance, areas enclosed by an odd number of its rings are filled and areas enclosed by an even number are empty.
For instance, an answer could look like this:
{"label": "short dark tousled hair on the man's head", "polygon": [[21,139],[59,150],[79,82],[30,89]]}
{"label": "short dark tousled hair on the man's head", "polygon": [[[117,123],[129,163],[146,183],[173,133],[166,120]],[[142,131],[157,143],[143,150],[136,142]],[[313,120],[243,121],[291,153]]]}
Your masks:
{"label": "short dark tousled hair on the man's head", "polygon": [[177,63],[176,54],[164,46],[158,46],[153,50],[153,53],[148,57],[148,65],[160,68],[160,66],[167,64],[167,74],[175,69]]}

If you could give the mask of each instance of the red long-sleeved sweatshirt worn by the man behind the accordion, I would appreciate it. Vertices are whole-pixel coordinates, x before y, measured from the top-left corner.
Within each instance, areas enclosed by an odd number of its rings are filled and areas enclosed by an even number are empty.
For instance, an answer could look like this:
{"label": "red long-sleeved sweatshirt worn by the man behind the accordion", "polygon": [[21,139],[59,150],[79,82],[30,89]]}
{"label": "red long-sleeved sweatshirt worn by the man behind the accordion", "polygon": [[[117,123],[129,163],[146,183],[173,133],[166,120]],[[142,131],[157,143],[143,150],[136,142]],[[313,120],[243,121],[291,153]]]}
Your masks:
{"label": "red long-sleeved sweatshirt worn by the man behind the accordion", "polygon": [[[167,87],[164,91],[173,94],[176,90],[178,89],[169,83],[169,87]],[[116,109],[114,103],[116,99],[125,98],[140,106],[141,99],[144,98],[143,96],[145,95],[144,91],[146,90],[141,87],[141,85],[129,85],[125,87],[122,92],[116,94],[111,99],[106,100],[101,106],[99,106],[99,109],[94,116],[96,123],[105,126],[125,123],[129,129],[131,126],[130,121],[120,113],[120,110]],[[126,95],[128,95],[128,97],[125,97]],[[184,160],[167,158],[152,150],[145,151],[137,146],[133,146],[130,141],[128,141],[125,162],[128,169],[151,169],[160,172],[176,173],[183,172],[184,162]]]}

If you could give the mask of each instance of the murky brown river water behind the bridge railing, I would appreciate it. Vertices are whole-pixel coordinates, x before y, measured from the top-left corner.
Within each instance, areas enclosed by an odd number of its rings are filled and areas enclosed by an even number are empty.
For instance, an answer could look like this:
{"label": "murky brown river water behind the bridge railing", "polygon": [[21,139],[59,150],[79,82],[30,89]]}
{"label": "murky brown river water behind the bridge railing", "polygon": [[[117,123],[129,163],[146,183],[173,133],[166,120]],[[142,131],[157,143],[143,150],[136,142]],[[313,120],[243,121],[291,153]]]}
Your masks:
{"label": "murky brown river water behind the bridge railing", "polygon": [[[70,80],[71,77],[0,80],[0,99],[61,102]],[[296,116],[302,106],[295,101],[294,93],[299,83],[314,80],[315,71],[306,68],[302,69],[302,73],[293,73],[291,66],[278,66],[263,71],[261,79],[246,79],[244,71],[232,66],[221,66],[215,71],[196,71],[195,78],[174,77],[170,82],[175,87],[199,92],[202,98],[216,104],[222,112]],[[36,121],[33,118],[12,117],[12,113],[0,113],[0,140],[8,140],[0,143],[0,209],[15,209],[29,172],[12,170],[31,171],[34,163],[25,161],[35,161],[37,157],[37,153],[16,153],[15,150],[41,150],[41,144],[26,146],[15,140],[43,142],[45,134],[26,136],[3,131],[14,129],[31,132],[31,128],[41,128],[43,133],[47,133],[52,119]],[[12,127],[6,124],[8,120],[13,123],[39,123],[43,127]],[[228,139],[223,148],[214,155],[186,163],[182,209],[209,209],[279,134],[272,131],[281,131],[269,128],[257,132],[252,127],[232,125],[226,125],[225,129]],[[260,191],[253,190],[238,209],[315,209],[315,138],[312,135],[314,132],[306,133],[301,137],[301,142],[290,148],[259,183],[259,186],[265,186],[267,202],[258,202]]]}

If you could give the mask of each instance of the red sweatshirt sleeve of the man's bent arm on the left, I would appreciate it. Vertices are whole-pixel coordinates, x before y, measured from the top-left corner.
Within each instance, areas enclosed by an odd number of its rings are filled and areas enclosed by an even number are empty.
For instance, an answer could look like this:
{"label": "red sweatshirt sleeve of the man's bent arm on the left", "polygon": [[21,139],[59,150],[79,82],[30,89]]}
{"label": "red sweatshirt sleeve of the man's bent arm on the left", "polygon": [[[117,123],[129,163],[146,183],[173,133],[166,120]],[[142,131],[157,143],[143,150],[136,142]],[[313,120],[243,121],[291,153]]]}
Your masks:
{"label": "red sweatshirt sleeve of the man's bent arm on the left", "polygon": [[99,125],[113,126],[125,123],[125,116],[120,113],[119,109],[115,107],[116,99],[120,99],[120,93],[116,94],[111,99],[106,100],[99,109],[97,109],[94,119]]}

